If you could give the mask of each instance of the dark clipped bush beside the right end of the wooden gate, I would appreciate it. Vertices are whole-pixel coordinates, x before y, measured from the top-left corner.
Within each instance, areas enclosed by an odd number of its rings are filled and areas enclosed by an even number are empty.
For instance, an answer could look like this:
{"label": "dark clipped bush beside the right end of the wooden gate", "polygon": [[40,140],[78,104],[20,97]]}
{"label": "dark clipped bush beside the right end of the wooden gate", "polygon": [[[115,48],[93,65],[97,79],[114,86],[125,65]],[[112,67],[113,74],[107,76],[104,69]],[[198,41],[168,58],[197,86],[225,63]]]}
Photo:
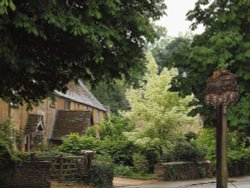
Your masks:
{"label": "dark clipped bush beside the right end of the wooden gate", "polygon": [[109,163],[95,162],[83,177],[85,183],[97,188],[112,187],[113,166]]}

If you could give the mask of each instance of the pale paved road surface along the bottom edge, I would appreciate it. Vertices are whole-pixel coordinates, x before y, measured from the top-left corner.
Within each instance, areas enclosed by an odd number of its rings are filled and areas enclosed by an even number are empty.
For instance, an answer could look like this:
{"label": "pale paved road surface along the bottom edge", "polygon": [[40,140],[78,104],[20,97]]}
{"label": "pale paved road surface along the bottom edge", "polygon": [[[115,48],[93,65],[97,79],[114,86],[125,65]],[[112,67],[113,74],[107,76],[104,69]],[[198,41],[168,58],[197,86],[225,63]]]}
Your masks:
{"label": "pale paved road surface along the bottom edge", "polygon": [[[115,178],[116,188],[216,188],[216,179],[199,179],[189,181],[158,181]],[[229,178],[228,188],[250,188],[250,176]]]}

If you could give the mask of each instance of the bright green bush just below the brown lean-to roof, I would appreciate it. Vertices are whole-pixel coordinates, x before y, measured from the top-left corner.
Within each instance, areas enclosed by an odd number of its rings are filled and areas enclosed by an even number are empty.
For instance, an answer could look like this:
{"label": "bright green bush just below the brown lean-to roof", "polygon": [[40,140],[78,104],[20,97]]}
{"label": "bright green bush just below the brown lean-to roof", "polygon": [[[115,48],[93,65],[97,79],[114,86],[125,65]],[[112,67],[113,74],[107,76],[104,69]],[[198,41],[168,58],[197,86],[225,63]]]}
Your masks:
{"label": "bright green bush just below the brown lean-to roof", "polygon": [[83,137],[72,133],[63,140],[62,145],[59,146],[59,151],[77,155],[84,149],[94,150],[98,143],[99,140],[94,137]]}

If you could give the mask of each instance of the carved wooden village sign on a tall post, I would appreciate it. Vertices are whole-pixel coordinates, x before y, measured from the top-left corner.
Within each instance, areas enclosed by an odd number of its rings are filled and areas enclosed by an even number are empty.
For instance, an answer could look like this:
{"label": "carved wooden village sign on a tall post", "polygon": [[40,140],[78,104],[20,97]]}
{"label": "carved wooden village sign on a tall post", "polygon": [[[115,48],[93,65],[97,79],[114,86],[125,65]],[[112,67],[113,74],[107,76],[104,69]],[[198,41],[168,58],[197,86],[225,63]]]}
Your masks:
{"label": "carved wooden village sign on a tall post", "polygon": [[205,102],[216,109],[217,188],[227,188],[227,107],[238,98],[239,87],[234,74],[224,70],[208,78]]}

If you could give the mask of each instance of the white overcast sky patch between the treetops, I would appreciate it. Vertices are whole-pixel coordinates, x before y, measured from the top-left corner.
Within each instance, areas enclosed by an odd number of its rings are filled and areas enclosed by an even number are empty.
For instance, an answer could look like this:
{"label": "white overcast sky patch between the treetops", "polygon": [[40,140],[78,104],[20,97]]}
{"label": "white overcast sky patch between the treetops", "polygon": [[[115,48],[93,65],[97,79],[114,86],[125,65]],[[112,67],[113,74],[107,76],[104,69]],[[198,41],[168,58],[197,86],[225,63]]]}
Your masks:
{"label": "white overcast sky patch between the treetops", "polygon": [[[196,0],[165,0],[167,16],[163,16],[156,24],[166,27],[168,36],[172,37],[191,32],[189,27],[192,22],[186,20],[186,13],[194,8],[195,2]],[[200,34],[203,31],[204,27],[200,26],[192,33]]]}

